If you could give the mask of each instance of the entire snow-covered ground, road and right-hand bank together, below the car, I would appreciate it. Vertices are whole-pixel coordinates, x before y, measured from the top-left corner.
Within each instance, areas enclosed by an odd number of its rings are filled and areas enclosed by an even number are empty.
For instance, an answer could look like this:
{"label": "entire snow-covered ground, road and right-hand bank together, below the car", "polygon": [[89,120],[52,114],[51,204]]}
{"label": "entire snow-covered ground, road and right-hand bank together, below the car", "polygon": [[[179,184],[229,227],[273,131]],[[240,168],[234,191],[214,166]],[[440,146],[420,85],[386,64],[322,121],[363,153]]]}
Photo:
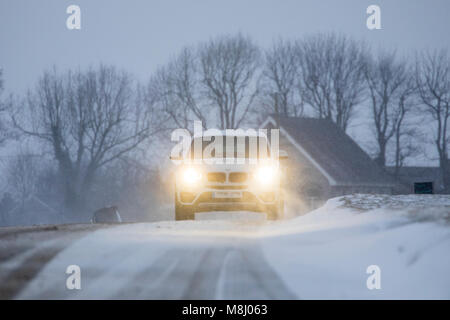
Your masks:
{"label": "entire snow-covered ground, road and right-hand bank together, below the car", "polygon": [[[0,298],[450,299],[449,197],[353,196],[254,217],[0,228]],[[66,288],[69,265],[81,290]]]}

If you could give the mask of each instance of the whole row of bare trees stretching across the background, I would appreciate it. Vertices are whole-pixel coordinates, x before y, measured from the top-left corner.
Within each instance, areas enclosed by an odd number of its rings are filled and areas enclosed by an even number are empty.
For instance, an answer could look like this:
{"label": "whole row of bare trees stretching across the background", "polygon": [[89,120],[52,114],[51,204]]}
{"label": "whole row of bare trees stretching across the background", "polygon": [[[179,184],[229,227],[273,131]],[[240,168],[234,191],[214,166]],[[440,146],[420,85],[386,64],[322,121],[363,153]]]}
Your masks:
{"label": "whole row of bare trees stretching across the background", "polygon": [[193,120],[235,129],[268,114],[329,119],[344,131],[364,117],[376,161],[397,169],[433,144],[450,190],[444,49],[399,57],[341,34],[269,48],[242,34],[218,36],[183,48],[145,83],[111,65],[54,67],[25,95],[0,99],[0,143],[39,146],[4,161],[8,197],[20,204],[35,195],[74,216],[111,202],[151,211],[165,181],[149,165],[165,157],[148,158],[155,143]]}

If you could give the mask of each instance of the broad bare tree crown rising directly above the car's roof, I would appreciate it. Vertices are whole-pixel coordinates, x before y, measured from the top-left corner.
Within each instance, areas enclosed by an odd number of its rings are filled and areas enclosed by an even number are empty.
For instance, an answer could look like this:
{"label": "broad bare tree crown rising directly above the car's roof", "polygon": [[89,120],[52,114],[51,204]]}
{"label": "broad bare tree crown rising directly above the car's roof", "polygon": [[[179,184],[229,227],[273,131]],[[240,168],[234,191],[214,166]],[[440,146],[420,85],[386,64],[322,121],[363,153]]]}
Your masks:
{"label": "broad bare tree crown rising directly above the car's roof", "polygon": [[[200,120],[205,128],[237,128],[258,94],[258,47],[240,34],[184,48],[159,68],[147,87],[172,126],[188,128]],[[218,119],[218,120],[217,120]]]}

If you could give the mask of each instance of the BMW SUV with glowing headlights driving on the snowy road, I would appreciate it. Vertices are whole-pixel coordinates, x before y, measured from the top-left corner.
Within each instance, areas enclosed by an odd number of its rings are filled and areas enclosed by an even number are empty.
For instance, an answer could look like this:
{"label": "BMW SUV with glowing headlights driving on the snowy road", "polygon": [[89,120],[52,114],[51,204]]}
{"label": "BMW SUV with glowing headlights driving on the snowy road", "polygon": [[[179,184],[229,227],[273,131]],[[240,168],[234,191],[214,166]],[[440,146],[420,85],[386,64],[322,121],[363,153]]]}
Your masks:
{"label": "BMW SUV with glowing headlights driving on the snowy road", "polygon": [[[280,150],[278,159],[270,157],[265,135],[224,134],[221,138],[223,152],[219,156],[214,154],[215,151],[207,155],[208,150],[211,151],[208,145],[214,138],[194,137],[187,153],[190,161],[185,158],[175,172],[175,219],[193,220],[195,213],[236,210],[266,212],[270,220],[282,218],[284,199],[279,160],[287,158],[287,154]],[[195,142],[197,139],[199,141]],[[249,147],[250,140],[258,141],[256,155],[255,148]],[[202,149],[197,163],[198,154],[193,152],[195,145]]]}

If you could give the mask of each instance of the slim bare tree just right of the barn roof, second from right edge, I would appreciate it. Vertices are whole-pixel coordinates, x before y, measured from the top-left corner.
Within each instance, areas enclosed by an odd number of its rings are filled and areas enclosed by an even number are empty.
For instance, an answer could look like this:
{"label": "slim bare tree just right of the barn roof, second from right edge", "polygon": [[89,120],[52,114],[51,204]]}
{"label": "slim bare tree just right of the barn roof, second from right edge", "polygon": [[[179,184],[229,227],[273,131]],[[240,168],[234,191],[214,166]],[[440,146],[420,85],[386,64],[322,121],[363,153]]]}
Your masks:
{"label": "slim bare tree just right of the barn roof, second from right edge", "polygon": [[[409,110],[406,99],[411,95],[410,75],[404,62],[396,61],[395,52],[381,52],[376,59],[367,64],[365,78],[374,124],[375,138],[378,146],[376,161],[386,165],[386,150],[389,141],[396,136],[400,160],[400,137],[403,120]],[[399,163],[397,163],[399,164]]]}

